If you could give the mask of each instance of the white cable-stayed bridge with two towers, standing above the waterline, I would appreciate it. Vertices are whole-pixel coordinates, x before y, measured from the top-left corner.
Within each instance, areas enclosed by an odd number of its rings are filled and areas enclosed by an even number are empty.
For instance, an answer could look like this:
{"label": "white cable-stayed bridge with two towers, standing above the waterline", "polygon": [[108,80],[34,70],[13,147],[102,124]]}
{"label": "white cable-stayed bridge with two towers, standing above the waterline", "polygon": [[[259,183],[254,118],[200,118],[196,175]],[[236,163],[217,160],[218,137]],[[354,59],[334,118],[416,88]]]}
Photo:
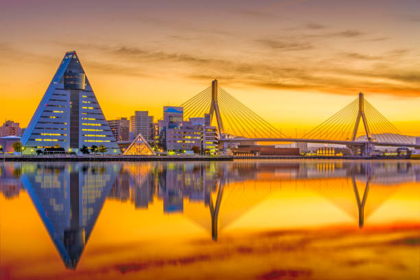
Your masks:
{"label": "white cable-stayed bridge with two towers, standing above the waterline", "polygon": [[[264,141],[325,143],[347,145],[354,152],[360,150],[363,154],[369,155],[375,145],[417,147],[401,135],[401,132],[375,107],[364,100],[363,93],[359,93],[359,97],[353,102],[307,132],[302,138],[286,137],[281,130],[218,87],[217,80],[213,80],[211,86],[181,106],[184,107],[185,118],[202,117],[205,113],[209,113],[213,120],[215,115],[223,148],[229,143]],[[364,140],[358,140],[361,138]]]}

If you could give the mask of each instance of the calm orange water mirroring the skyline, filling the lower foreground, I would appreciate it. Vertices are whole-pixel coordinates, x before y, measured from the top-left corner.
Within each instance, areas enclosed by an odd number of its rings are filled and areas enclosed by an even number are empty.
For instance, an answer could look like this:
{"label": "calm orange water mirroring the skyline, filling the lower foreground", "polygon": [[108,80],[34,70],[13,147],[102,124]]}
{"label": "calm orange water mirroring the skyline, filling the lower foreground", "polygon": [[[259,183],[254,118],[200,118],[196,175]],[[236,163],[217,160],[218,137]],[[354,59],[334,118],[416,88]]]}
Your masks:
{"label": "calm orange water mirroring the skyline, filling the lower foreground", "polygon": [[0,163],[1,279],[420,279],[420,161]]}

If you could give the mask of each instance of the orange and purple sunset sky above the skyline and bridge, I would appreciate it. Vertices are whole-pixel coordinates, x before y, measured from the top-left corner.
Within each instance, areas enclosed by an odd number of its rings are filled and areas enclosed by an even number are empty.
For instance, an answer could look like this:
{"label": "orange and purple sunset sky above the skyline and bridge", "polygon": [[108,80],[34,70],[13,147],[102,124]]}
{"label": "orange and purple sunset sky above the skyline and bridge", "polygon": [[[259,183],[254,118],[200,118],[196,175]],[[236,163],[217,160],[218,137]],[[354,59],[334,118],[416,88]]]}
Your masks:
{"label": "orange and purple sunset sky above the skyline and bridge", "polygon": [[419,0],[0,0],[0,122],[27,126],[75,50],[107,119],[219,85],[286,133],[365,93],[420,135]]}

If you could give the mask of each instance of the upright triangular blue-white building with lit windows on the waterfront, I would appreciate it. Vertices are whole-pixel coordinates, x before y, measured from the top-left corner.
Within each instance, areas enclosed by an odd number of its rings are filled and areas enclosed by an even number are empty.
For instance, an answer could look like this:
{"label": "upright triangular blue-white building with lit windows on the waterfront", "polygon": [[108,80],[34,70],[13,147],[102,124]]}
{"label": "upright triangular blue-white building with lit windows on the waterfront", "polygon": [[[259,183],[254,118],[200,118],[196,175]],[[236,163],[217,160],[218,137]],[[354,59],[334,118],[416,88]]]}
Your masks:
{"label": "upright triangular blue-white building with lit windows on the waterfront", "polygon": [[22,136],[22,144],[24,154],[57,144],[72,152],[83,145],[104,145],[109,153],[120,153],[75,51],[65,54]]}

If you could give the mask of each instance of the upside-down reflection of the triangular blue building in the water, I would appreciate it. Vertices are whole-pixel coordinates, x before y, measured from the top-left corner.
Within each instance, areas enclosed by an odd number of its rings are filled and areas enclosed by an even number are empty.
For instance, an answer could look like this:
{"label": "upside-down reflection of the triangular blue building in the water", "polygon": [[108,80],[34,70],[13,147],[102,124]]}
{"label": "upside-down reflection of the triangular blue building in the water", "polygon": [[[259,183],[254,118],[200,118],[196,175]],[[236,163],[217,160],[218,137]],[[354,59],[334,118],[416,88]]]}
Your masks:
{"label": "upside-down reflection of the triangular blue building in the water", "polygon": [[23,172],[41,220],[67,268],[75,269],[119,165],[40,165]]}

